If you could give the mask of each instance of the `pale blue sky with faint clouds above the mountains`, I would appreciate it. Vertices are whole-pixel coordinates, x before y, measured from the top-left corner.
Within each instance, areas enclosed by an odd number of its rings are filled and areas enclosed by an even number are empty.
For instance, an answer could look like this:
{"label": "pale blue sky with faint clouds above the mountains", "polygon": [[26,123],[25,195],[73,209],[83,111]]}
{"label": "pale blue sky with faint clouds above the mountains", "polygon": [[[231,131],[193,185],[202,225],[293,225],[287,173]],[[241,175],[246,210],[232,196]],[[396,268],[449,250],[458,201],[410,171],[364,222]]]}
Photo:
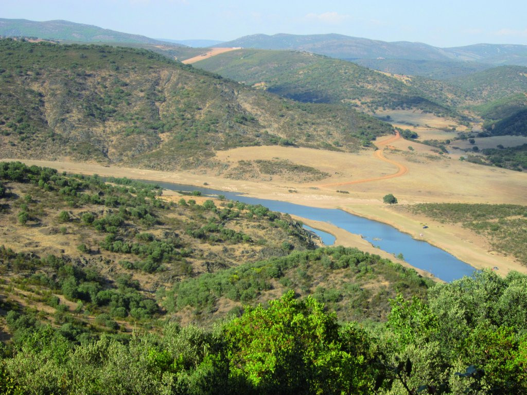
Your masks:
{"label": "pale blue sky with faint clouds above the mountains", "polygon": [[527,44],[527,1],[0,0],[0,17],[66,21],[172,40],[338,33],[439,47]]}

